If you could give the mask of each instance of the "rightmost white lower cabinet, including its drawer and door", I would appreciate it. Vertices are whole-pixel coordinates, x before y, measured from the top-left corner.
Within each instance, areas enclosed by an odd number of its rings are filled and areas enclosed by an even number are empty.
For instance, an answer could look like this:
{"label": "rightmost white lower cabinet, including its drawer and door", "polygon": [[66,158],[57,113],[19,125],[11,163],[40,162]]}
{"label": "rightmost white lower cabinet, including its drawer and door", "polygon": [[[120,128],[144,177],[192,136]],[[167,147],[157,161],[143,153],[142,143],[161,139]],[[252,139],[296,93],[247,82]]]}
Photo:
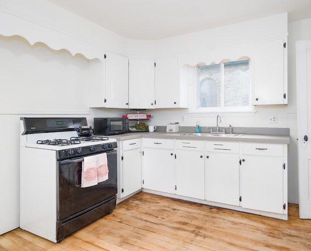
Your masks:
{"label": "rightmost white lower cabinet, including its drawer and door", "polygon": [[287,214],[287,145],[241,143],[241,205]]}

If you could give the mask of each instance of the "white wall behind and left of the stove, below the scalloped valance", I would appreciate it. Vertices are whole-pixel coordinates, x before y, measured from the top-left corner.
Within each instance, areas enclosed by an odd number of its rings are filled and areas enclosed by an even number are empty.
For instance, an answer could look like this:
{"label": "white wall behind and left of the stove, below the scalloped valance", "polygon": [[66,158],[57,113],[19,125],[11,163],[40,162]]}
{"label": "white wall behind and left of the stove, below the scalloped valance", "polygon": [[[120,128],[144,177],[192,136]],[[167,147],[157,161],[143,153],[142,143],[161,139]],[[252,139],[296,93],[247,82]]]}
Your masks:
{"label": "white wall behind and left of the stove, below the scalloped valance", "polygon": [[0,36],[0,234],[19,226],[19,118],[88,117],[87,99],[78,97],[89,94],[89,75],[100,79],[93,64],[102,63],[44,44],[30,46],[19,36]]}

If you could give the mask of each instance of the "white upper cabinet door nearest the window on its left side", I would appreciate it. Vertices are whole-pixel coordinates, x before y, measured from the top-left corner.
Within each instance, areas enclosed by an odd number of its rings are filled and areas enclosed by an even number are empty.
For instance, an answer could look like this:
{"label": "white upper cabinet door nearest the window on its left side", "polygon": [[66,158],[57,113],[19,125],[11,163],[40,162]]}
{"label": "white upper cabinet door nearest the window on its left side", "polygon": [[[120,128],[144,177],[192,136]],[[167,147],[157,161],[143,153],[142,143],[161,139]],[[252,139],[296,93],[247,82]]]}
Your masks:
{"label": "white upper cabinet door nearest the window on its left side", "polygon": [[155,108],[180,107],[177,57],[155,61]]}

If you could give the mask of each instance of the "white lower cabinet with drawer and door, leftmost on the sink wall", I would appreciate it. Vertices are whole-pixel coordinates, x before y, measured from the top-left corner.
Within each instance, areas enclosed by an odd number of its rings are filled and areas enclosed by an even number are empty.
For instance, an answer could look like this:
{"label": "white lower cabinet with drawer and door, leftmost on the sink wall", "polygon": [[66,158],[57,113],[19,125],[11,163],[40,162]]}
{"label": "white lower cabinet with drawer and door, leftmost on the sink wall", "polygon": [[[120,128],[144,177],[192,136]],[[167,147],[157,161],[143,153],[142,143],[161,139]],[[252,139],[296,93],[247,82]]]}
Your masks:
{"label": "white lower cabinet with drawer and door, leftmost on the sink wall", "polygon": [[174,140],[143,139],[142,186],[174,193]]}

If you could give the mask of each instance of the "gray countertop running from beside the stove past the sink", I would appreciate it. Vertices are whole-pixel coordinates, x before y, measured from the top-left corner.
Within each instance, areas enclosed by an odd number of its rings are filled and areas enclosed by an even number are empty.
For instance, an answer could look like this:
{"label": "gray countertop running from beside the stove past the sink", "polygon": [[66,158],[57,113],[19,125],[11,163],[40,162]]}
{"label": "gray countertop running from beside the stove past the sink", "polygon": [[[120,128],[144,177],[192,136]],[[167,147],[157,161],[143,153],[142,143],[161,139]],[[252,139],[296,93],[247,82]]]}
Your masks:
{"label": "gray countertop running from beside the stove past the sink", "polygon": [[240,137],[213,137],[207,136],[208,133],[203,133],[205,136],[182,135],[187,132],[129,132],[121,135],[111,135],[109,138],[117,141],[132,140],[138,138],[154,138],[154,139],[176,139],[176,140],[205,140],[205,141],[235,141],[235,142],[259,142],[259,143],[282,143],[289,144],[289,135],[272,135],[272,134],[243,134]]}

